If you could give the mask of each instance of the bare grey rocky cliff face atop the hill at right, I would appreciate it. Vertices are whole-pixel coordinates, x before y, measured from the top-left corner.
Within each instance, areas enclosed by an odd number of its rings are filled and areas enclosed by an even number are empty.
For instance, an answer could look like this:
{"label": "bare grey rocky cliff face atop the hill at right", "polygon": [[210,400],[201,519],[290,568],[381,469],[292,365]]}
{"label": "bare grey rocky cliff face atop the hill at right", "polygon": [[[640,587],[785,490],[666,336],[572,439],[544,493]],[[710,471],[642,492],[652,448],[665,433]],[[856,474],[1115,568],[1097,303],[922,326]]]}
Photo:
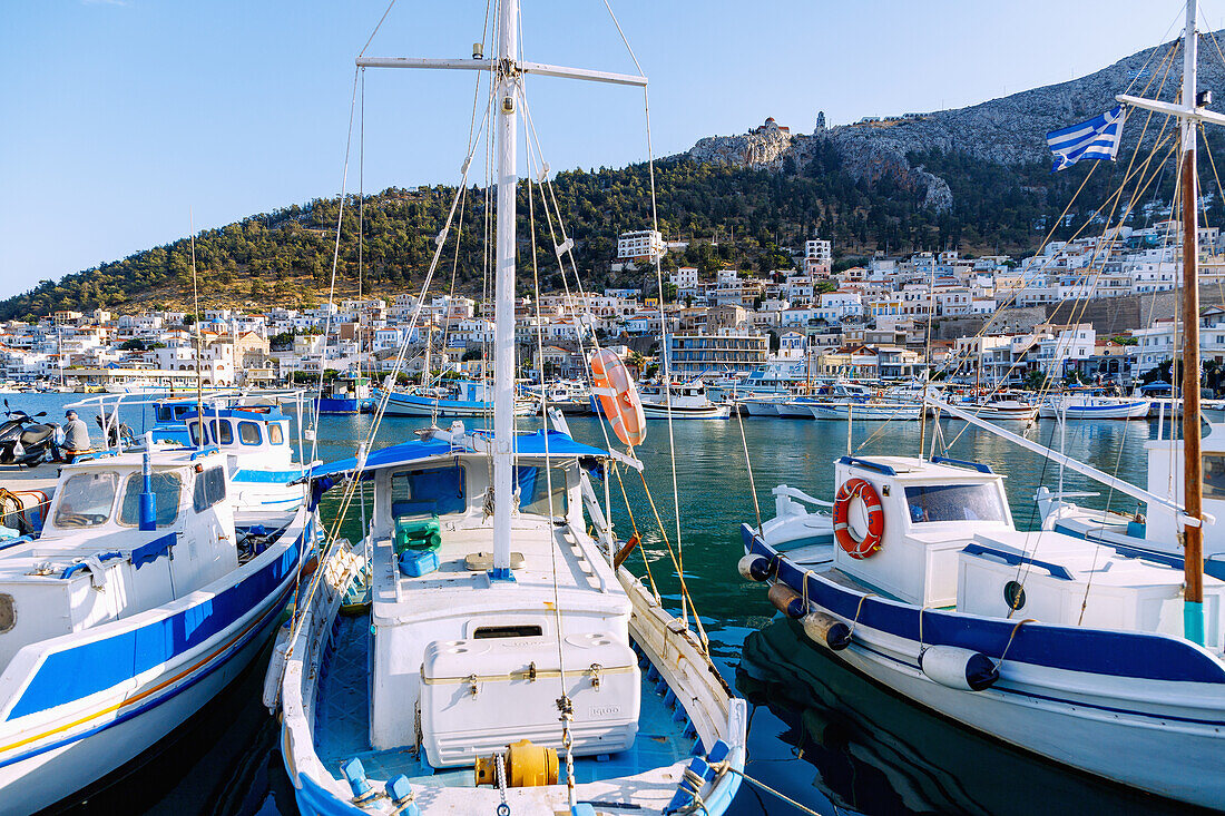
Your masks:
{"label": "bare grey rocky cliff face atop the hill at right", "polygon": [[[1225,31],[1203,34],[1199,47],[1199,88],[1212,89],[1225,105],[1225,64],[1216,42]],[[811,136],[791,135],[773,119],[741,136],[703,138],[688,152],[698,162],[718,162],[779,172],[788,158],[802,169],[821,141],[832,142],[843,167],[854,178],[876,181],[892,176],[937,212],[953,203],[948,184],[908,159],[915,152],[964,152],[985,162],[1017,164],[1050,158],[1046,134],[1112,108],[1115,94],[1132,93],[1174,100],[1181,85],[1182,48],[1175,40],[1132,54],[1089,76],[1049,85],[969,108],[940,110],[905,119],[824,127],[818,116]],[[1148,114],[1132,111],[1136,123]],[[1148,136],[1163,121],[1154,116]],[[1134,146],[1143,126],[1125,130],[1123,149]]]}

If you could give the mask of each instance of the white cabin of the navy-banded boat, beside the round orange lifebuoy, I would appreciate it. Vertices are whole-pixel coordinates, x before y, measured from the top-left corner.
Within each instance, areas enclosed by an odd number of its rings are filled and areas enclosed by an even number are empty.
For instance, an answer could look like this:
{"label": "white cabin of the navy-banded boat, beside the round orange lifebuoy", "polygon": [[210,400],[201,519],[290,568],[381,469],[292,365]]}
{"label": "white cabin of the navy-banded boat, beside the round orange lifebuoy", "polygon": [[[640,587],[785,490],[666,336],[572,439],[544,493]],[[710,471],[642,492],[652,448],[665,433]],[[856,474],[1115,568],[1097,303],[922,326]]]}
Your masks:
{"label": "white cabin of the navy-banded boat, beside the round orange lifebuoy", "polygon": [[[876,551],[856,557],[834,549],[837,571],[861,587],[924,608],[1182,637],[1181,566],[1061,532],[1016,529],[1003,477],[986,466],[843,457],[835,482],[840,488],[850,479],[866,480],[875,493],[849,500],[854,537],[870,532],[872,501],[883,519]],[[1205,577],[1205,643],[1215,652],[1223,615],[1225,583]]]}

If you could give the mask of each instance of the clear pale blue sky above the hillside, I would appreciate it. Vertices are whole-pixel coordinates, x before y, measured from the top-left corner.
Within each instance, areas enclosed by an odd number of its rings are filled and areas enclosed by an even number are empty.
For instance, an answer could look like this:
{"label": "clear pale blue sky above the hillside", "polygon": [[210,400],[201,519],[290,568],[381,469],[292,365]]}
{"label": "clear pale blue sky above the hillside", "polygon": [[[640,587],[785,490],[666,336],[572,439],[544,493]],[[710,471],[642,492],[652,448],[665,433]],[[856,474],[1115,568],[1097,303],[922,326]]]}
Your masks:
{"label": "clear pale blue sky above the hillside", "polygon": [[[1225,0],[1202,4],[1220,28]],[[5,0],[0,297],[341,186],[353,58],[386,0]],[[812,130],[1098,70],[1181,0],[619,0],[657,154],[774,116]],[[399,0],[369,49],[468,56],[483,0]],[[601,0],[524,0],[528,59],[632,71]],[[642,97],[537,78],[554,169],[646,158]],[[365,190],[453,183],[467,72],[368,71]],[[356,174],[350,173],[349,189]]]}

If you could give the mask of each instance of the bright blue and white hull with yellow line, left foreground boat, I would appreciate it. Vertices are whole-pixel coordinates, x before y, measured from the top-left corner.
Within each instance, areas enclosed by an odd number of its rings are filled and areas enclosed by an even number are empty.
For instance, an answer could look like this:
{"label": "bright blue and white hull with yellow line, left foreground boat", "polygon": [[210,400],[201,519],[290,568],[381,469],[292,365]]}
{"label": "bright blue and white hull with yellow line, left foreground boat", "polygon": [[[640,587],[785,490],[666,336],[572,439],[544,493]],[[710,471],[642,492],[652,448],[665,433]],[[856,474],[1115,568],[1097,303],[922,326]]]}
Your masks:
{"label": "bright blue and white hull with yellow line, left foreground boat", "polygon": [[[6,712],[0,723],[0,815],[29,814],[88,788],[167,738],[241,674],[267,643],[293,591],[301,532],[299,526],[285,533],[233,581],[102,626],[100,637],[51,649],[28,673],[21,671],[26,664],[18,653],[0,675],[15,682],[0,709]],[[192,641],[192,632],[209,631]],[[131,676],[141,649],[156,647],[174,652]],[[66,659],[53,663],[61,655]],[[97,676],[123,673],[124,664],[129,676],[115,685],[56,705],[39,702],[64,685],[43,676],[53,665],[66,675]],[[43,697],[39,689],[48,690]]]}

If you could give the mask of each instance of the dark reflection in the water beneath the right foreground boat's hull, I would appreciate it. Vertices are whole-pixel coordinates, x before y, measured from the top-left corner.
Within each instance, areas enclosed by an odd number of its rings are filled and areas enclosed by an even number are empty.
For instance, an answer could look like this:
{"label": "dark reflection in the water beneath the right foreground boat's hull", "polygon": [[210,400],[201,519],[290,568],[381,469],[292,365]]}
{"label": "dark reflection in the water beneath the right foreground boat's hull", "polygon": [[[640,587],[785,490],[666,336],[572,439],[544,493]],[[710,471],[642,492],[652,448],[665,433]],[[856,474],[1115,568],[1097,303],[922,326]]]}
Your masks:
{"label": "dark reflection in the water beneath the right foreground boat's hull", "polygon": [[[813,647],[786,618],[745,640],[736,691],[752,706],[745,772],[822,814],[1198,812],[1068,772],[915,707]],[[789,757],[813,769],[794,760],[788,769]],[[783,807],[767,794],[761,801],[768,814]]]}

